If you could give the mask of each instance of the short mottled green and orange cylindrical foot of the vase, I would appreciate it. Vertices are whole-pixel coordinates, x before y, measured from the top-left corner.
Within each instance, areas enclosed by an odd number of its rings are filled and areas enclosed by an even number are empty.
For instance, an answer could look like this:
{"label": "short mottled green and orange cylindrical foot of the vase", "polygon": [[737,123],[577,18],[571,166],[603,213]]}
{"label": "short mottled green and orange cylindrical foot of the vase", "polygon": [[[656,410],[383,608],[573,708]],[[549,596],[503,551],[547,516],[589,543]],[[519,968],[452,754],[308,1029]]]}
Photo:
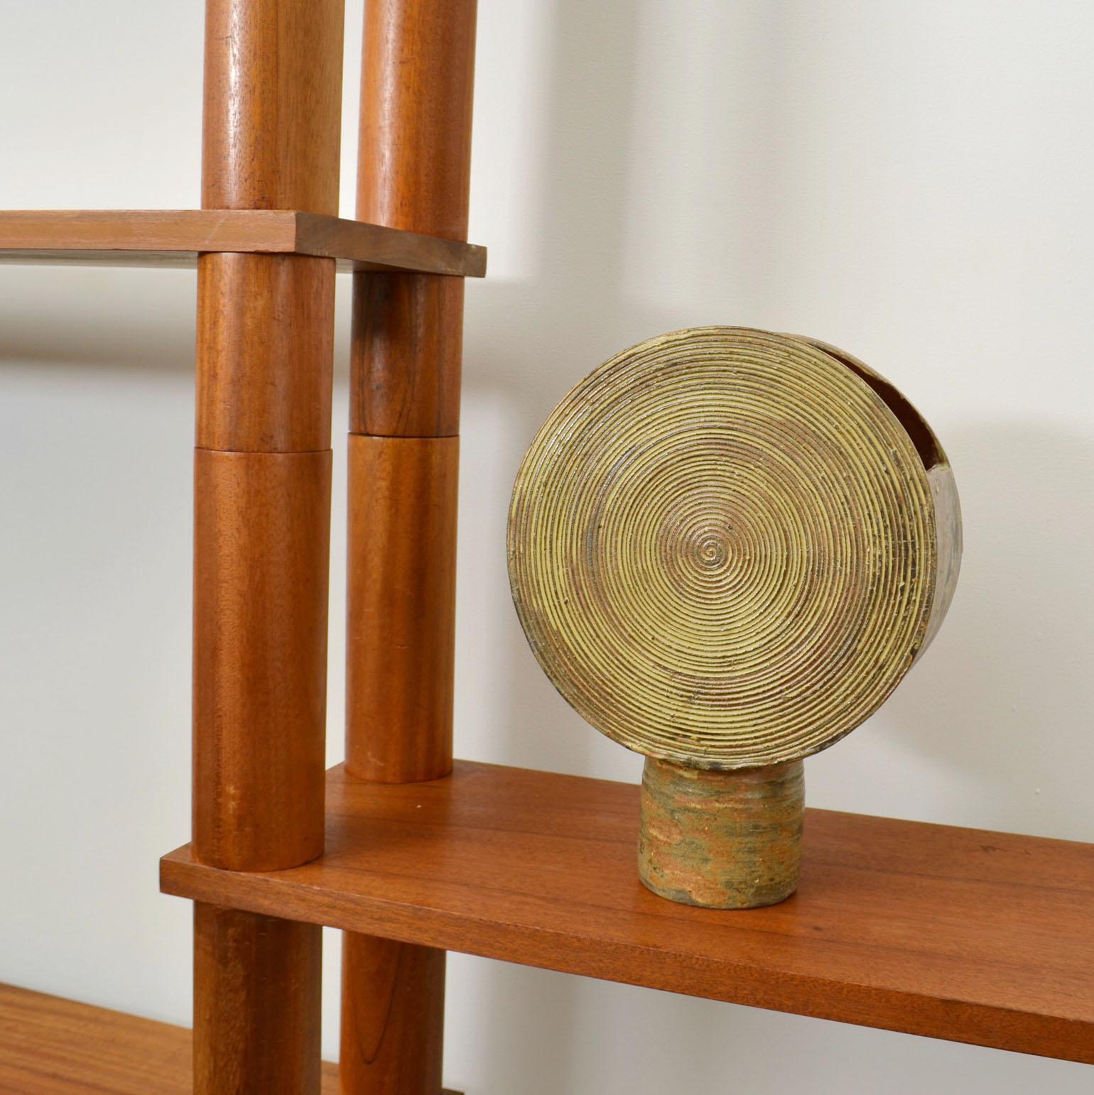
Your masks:
{"label": "short mottled green and orange cylindrical foot of the vase", "polygon": [[709,772],[648,757],[638,877],[683,904],[774,904],[797,888],[804,814],[802,761]]}

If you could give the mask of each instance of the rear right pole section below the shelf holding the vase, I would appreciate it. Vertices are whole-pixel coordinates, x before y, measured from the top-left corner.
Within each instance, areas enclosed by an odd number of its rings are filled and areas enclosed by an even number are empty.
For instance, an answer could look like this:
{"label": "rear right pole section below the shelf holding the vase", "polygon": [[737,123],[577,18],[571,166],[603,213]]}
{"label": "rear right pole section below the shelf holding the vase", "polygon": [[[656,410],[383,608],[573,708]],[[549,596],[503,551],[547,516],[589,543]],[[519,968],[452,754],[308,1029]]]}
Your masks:
{"label": "rear right pole section below the shelf holding the vase", "polygon": [[342,984],[343,1092],[439,1092],[445,952],[346,932]]}

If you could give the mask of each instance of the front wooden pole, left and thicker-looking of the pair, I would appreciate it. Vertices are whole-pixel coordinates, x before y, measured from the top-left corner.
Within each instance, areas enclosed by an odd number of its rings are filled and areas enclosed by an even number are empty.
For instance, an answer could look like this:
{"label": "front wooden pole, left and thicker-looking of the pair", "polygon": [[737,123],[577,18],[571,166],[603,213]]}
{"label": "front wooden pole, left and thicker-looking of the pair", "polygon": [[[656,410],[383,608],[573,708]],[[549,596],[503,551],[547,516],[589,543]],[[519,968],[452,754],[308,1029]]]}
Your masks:
{"label": "front wooden pole, left and thicker-looking of the pair", "polygon": [[[201,204],[334,214],[343,0],[207,0]],[[194,853],[323,848],[334,261],[198,261]],[[197,903],[194,1090],[320,1084],[320,929]]]}

